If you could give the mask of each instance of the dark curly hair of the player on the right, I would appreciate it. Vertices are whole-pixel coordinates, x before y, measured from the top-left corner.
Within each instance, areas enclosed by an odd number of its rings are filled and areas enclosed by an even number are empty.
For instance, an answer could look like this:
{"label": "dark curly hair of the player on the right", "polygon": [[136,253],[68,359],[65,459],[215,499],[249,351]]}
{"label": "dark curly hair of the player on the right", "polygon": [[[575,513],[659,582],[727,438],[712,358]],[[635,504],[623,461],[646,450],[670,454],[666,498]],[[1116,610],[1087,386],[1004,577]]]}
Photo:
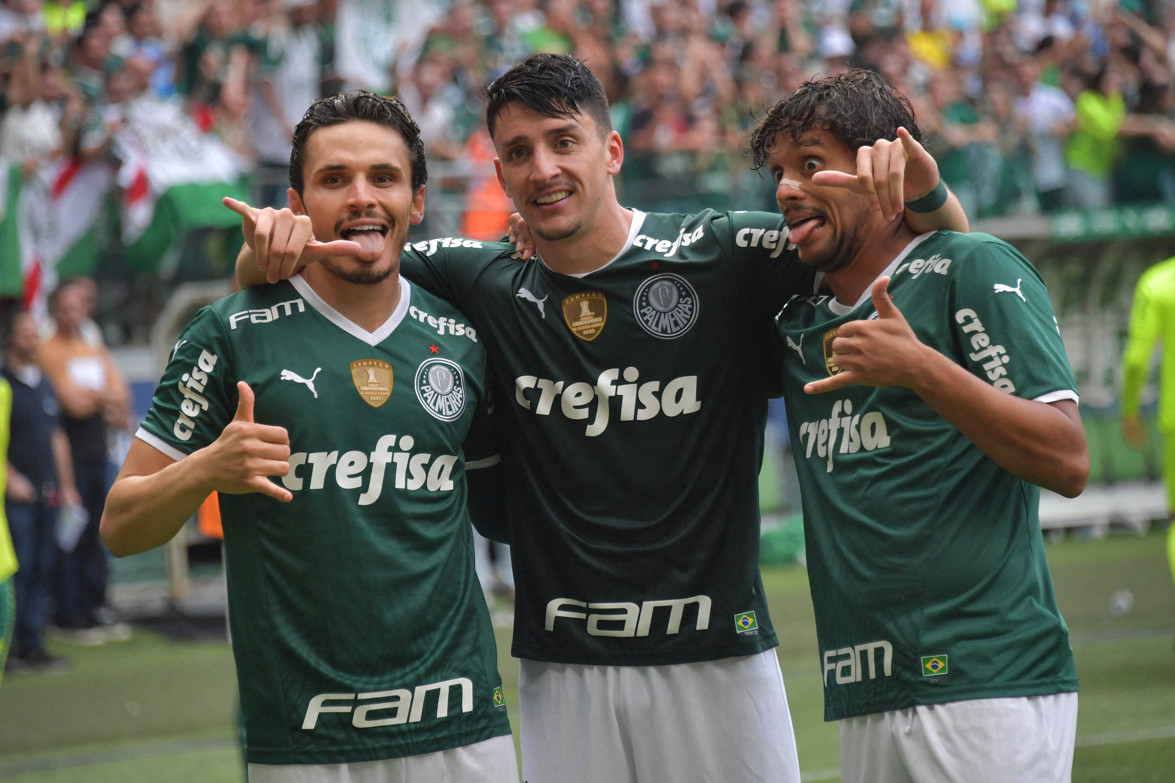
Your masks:
{"label": "dark curly hair of the player on the right", "polygon": [[798,141],[813,129],[831,133],[855,153],[882,139],[895,140],[898,128],[922,141],[909,100],[872,70],[853,68],[806,81],[771,107],[751,131],[751,154],[754,168],[763,168],[780,136]]}

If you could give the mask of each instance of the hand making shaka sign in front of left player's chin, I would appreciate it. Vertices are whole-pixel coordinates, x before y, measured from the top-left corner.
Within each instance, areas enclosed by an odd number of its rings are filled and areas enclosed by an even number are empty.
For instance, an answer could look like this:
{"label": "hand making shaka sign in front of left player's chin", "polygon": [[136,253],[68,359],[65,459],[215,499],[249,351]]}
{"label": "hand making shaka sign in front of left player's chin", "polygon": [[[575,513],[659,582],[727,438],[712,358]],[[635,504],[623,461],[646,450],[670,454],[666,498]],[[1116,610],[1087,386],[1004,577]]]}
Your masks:
{"label": "hand making shaka sign in front of left player's chin", "polygon": [[288,208],[257,209],[228,196],[221,202],[241,216],[244,242],[257,259],[257,269],[266,272],[266,279],[270,283],[293,277],[302,266],[334,256],[358,256],[364,261],[375,261],[364,255],[358,242],[315,239],[307,215],[295,215]]}

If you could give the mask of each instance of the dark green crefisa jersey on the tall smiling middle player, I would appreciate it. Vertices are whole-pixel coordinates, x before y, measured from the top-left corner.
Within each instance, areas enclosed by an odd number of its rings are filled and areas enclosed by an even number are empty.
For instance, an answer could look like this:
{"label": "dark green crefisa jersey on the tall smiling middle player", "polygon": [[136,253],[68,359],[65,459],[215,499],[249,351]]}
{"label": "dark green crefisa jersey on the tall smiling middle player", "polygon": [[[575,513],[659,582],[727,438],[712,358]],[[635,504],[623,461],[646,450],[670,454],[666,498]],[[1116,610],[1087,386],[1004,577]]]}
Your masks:
{"label": "dark green crefisa jersey on the tall smiling middle player", "polygon": [[811,276],[779,215],[645,215],[560,275],[432,239],[404,274],[484,336],[510,478],[518,657],[658,666],[774,646],[758,473],[772,318]]}

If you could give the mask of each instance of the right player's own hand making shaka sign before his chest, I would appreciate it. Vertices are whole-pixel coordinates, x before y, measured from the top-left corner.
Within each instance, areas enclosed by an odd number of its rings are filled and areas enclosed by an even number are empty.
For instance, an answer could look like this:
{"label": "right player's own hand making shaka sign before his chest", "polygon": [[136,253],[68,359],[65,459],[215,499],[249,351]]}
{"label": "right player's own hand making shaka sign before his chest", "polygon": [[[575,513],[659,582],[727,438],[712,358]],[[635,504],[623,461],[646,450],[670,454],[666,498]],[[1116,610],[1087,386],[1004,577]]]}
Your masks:
{"label": "right player's own hand making shaka sign before his chest", "polygon": [[850,386],[908,386],[911,373],[925,360],[927,347],[889,299],[889,278],[873,284],[874,320],[851,320],[837,330],[832,360],[840,372],[804,386],[808,394]]}

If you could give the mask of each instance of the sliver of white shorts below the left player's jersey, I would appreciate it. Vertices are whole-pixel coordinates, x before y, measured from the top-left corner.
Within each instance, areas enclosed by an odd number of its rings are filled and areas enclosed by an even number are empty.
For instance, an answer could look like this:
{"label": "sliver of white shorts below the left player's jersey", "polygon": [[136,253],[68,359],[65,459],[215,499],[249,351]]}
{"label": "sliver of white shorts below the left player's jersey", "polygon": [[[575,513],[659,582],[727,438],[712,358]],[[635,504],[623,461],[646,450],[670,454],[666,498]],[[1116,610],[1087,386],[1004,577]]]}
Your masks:
{"label": "sliver of white shorts below the left player's jersey", "polygon": [[383,761],[249,764],[249,783],[518,783],[518,757],[506,735]]}

